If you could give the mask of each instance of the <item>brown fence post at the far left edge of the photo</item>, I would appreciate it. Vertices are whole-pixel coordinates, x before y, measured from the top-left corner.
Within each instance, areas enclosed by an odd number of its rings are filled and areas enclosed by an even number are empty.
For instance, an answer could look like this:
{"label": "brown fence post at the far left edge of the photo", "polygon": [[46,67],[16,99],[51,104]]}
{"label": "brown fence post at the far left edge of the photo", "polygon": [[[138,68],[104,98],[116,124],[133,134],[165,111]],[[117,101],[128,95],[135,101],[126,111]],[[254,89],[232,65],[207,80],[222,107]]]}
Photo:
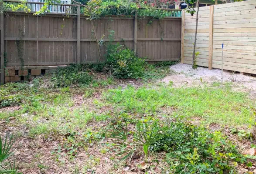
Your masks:
{"label": "brown fence post at the far left edge of the photo", "polygon": [[[1,5],[2,6],[2,5]],[[1,84],[4,84],[4,40],[3,40],[3,15],[4,13],[1,12]]]}

